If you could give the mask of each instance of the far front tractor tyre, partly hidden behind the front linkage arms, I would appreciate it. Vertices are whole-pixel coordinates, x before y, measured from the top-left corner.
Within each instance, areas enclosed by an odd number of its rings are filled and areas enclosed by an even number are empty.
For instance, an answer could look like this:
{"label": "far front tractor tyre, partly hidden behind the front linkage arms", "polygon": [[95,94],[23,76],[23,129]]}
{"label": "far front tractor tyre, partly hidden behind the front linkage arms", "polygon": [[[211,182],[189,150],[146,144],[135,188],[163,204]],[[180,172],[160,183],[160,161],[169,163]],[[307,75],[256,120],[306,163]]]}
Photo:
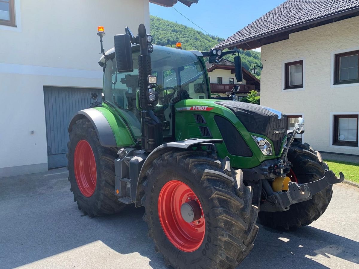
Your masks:
{"label": "far front tractor tyre, partly hidden behind the front linkage arms", "polygon": [[[318,151],[307,143],[294,140],[288,151],[288,160],[293,167],[289,176],[299,184],[309,183],[324,176],[328,165],[322,161]],[[301,203],[292,204],[288,211],[259,212],[261,224],[278,230],[297,230],[317,220],[327,209],[332,198],[332,185],[313,195],[313,198]]]}

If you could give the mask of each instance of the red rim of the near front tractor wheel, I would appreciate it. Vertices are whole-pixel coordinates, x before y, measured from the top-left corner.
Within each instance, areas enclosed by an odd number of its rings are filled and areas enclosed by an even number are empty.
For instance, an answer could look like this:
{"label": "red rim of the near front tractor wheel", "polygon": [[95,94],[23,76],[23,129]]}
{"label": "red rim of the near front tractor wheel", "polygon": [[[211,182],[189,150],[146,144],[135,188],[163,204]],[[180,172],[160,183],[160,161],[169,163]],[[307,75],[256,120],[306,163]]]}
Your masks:
{"label": "red rim of the near front tractor wheel", "polygon": [[[203,218],[188,223],[182,218],[181,206],[192,199],[199,204]],[[178,180],[164,184],[158,197],[158,216],[165,235],[177,249],[192,252],[200,247],[206,228],[204,214],[197,195],[188,185]]]}

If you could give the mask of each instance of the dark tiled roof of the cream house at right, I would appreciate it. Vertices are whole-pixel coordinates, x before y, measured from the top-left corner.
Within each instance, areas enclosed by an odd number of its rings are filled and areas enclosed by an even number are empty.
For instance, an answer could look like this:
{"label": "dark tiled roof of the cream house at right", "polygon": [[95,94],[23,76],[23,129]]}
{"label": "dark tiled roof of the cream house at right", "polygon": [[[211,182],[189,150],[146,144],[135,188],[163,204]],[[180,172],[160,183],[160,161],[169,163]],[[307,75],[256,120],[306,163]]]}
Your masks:
{"label": "dark tiled roof of the cream house at right", "polygon": [[[216,48],[257,48],[288,39],[289,33],[358,15],[359,0],[287,0],[219,43]],[[279,33],[282,33],[281,36],[269,40],[269,36]]]}

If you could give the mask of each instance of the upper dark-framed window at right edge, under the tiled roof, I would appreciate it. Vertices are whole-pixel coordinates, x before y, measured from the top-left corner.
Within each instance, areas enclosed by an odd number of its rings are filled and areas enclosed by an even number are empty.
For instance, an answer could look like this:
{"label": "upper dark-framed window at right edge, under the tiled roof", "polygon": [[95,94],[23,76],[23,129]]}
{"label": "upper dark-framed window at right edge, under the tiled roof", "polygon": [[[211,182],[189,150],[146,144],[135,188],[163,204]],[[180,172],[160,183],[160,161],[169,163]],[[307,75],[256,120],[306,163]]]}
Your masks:
{"label": "upper dark-framed window at right edge, under the tiled roof", "polygon": [[334,84],[359,83],[359,51],[335,55]]}

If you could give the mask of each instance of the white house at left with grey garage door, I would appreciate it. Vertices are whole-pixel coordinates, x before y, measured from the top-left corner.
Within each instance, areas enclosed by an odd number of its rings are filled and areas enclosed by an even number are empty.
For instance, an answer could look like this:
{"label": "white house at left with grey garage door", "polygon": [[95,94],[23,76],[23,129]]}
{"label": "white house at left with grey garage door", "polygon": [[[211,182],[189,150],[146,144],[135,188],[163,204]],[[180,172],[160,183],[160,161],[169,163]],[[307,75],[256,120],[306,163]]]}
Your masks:
{"label": "white house at left with grey garage door", "polygon": [[149,30],[149,2],[177,0],[0,1],[0,177],[66,165],[67,124],[102,88],[97,27],[106,49],[125,26]]}

